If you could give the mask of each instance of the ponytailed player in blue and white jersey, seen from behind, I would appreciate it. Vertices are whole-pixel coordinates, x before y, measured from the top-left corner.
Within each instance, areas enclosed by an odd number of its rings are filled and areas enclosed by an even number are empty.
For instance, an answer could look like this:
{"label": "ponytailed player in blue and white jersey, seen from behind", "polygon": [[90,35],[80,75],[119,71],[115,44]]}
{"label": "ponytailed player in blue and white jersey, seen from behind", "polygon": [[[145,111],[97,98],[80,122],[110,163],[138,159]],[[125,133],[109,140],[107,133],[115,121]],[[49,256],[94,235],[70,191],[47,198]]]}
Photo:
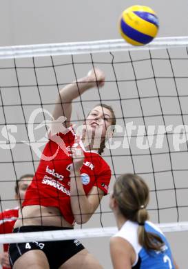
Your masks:
{"label": "ponytailed player in blue and white jersey, seen from behind", "polygon": [[147,221],[149,188],[133,174],[118,177],[110,195],[118,232],[110,239],[114,269],[178,269],[163,232]]}

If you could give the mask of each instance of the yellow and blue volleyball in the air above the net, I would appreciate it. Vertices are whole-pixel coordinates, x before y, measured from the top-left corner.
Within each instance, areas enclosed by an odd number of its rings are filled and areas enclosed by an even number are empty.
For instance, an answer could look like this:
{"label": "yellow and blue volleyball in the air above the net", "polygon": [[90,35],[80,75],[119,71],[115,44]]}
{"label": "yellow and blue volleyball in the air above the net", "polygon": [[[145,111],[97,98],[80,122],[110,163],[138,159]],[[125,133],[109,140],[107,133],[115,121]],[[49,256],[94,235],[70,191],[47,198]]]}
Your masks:
{"label": "yellow and blue volleyball in the air above the net", "polygon": [[158,33],[156,12],[147,6],[131,6],[123,11],[119,31],[123,39],[134,46],[151,42]]}

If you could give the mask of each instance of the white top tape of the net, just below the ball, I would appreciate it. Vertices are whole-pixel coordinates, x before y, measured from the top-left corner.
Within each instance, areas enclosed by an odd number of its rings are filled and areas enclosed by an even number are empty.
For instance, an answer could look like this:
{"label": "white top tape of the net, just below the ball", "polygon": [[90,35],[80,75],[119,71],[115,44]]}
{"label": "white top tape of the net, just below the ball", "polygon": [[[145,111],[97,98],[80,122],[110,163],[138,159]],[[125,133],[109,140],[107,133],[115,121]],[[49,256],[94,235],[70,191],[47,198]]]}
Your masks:
{"label": "white top tape of the net, just below the ball", "polygon": [[132,46],[123,39],[103,41],[52,43],[28,46],[10,46],[0,48],[0,59],[44,57],[54,55],[85,54],[122,50],[153,50],[188,46],[188,37],[160,37],[147,46]]}

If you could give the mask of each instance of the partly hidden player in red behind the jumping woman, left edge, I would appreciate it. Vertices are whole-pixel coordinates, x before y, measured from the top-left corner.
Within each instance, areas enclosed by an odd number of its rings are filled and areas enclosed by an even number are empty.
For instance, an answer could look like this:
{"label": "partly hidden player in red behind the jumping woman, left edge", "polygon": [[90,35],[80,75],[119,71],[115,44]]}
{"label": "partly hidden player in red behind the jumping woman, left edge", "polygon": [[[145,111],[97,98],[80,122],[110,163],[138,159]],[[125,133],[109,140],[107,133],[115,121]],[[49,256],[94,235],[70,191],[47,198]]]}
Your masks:
{"label": "partly hidden player in red behind the jumping woman, left edge", "polygon": [[[31,183],[33,175],[23,175],[17,180],[15,186],[15,199],[19,202],[17,208],[6,209],[0,213],[0,233],[11,233],[14,227],[14,223],[19,217],[19,207],[21,201],[23,201],[25,192]],[[0,264],[3,269],[10,268],[10,262],[8,259],[8,243],[3,244],[3,252],[0,253]]]}

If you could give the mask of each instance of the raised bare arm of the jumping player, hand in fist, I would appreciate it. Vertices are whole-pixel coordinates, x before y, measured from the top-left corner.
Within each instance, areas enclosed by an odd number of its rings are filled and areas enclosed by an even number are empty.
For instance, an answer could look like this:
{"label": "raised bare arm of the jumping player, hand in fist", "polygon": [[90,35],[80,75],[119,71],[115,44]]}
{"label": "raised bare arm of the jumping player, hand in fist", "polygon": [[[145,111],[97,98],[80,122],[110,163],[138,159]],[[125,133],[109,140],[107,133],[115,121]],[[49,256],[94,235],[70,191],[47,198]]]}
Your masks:
{"label": "raised bare arm of the jumping player, hand in fist", "polygon": [[61,116],[66,117],[64,126],[67,128],[70,124],[72,114],[72,101],[83,94],[86,90],[96,86],[102,87],[105,83],[105,75],[101,70],[95,68],[88,72],[86,77],[74,81],[59,91],[59,96],[56,100],[56,105],[53,112],[54,119]]}

